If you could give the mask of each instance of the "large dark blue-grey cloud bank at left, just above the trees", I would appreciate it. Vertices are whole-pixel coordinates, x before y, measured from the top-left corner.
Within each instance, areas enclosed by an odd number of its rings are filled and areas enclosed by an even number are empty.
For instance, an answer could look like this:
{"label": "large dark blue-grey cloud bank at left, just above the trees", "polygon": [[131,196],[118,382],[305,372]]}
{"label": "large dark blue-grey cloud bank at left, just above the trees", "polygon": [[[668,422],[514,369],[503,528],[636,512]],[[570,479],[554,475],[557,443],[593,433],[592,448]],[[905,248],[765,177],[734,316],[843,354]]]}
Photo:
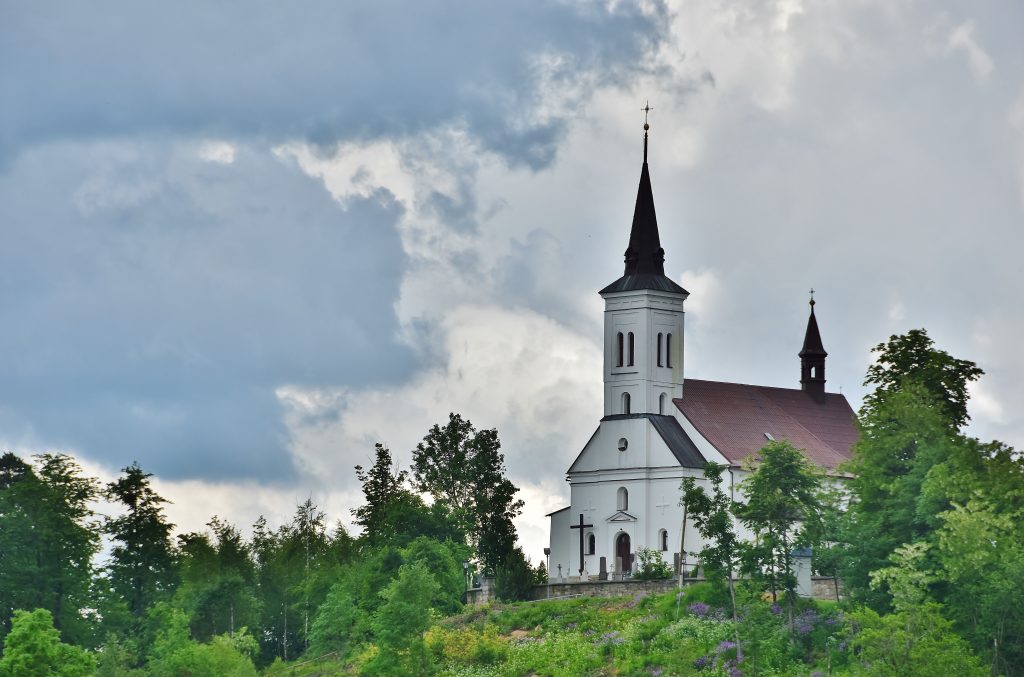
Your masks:
{"label": "large dark blue-grey cloud bank at left, just above the trees", "polygon": [[0,177],[0,431],[167,478],[287,479],[274,389],[400,379],[389,194],[291,162],[57,143]]}

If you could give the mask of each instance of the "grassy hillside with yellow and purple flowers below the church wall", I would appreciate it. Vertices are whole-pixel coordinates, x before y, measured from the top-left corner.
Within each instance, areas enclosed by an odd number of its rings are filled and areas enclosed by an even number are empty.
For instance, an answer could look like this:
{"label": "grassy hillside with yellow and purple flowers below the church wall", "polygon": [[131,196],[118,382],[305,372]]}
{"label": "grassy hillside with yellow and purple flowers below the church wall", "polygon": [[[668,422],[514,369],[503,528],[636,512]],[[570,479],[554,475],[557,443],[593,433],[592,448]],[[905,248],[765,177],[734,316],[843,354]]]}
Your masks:
{"label": "grassy hillside with yellow and purple flowers below the church wall", "polygon": [[[425,634],[431,670],[459,677],[524,675],[843,674],[847,623],[833,604],[807,602],[795,619],[754,599],[737,627],[707,586],[685,596],[575,598],[494,604],[437,619]],[[344,660],[276,664],[267,675],[359,674],[375,648]]]}

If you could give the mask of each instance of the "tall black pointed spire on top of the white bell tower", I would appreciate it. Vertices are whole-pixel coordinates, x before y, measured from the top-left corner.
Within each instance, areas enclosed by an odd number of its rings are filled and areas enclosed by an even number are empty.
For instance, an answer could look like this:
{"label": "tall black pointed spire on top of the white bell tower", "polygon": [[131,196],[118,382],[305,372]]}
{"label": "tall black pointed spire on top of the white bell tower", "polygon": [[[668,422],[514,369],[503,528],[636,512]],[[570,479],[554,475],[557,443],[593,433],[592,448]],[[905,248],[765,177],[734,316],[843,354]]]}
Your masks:
{"label": "tall black pointed spire on top of the white bell tower", "polygon": [[[643,109],[646,113],[650,107]],[[626,250],[626,269],[623,277],[601,290],[625,292],[637,289],[657,289],[666,292],[687,294],[688,292],[665,274],[665,250],[657,234],[657,215],[654,213],[654,194],[650,187],[650,171],[647,169],[647,130],[643,125],[643,167],[640,169],[640,186],[637,188],[637,203],[633,210],[633,226],[630,229],[630,245]]]}

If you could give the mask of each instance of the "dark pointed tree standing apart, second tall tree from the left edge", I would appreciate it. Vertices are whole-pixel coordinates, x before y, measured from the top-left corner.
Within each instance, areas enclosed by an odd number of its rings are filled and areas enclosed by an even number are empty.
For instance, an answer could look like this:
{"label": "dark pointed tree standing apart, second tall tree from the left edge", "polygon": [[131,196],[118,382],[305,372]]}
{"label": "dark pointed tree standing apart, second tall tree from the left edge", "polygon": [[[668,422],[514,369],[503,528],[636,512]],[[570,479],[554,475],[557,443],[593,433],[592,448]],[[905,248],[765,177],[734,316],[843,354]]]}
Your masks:
{"label": "dark pointed tree standing apart, second tall tree from the left edge", "polygon": [[106,534],[114,540],[108,565],[114,591],[127,603],[129,612],[142,618],[152,604],[165,599],[177,584],[171,530],[161,498],[150,484],[151,473],[137,463],[123,468],[121,477],[106,485],[106,498],[127,509],[108,520]]}

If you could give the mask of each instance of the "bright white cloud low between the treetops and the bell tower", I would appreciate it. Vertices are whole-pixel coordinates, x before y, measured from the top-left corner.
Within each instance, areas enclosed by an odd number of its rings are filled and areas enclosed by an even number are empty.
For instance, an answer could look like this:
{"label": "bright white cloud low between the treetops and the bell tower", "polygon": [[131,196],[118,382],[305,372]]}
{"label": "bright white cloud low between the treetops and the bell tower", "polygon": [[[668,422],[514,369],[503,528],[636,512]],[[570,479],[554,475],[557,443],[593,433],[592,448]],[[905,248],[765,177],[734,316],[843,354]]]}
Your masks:
{"label": "bright white cloud low between the treetops and the bell tower", "polygon": [[444,364],[410,383],[279,389],[292,453],[305,476],[355,486],[352,466],[372,459],[374,442],[408,466],[430,426],[458,412],[478,429],[498,428],[509,476],[527,500],[520,540],[539,551],[543,515],[567,497],[564,471],[600,418],[600,351],[543,315],[486,306],[453,308],[439,338]]}

